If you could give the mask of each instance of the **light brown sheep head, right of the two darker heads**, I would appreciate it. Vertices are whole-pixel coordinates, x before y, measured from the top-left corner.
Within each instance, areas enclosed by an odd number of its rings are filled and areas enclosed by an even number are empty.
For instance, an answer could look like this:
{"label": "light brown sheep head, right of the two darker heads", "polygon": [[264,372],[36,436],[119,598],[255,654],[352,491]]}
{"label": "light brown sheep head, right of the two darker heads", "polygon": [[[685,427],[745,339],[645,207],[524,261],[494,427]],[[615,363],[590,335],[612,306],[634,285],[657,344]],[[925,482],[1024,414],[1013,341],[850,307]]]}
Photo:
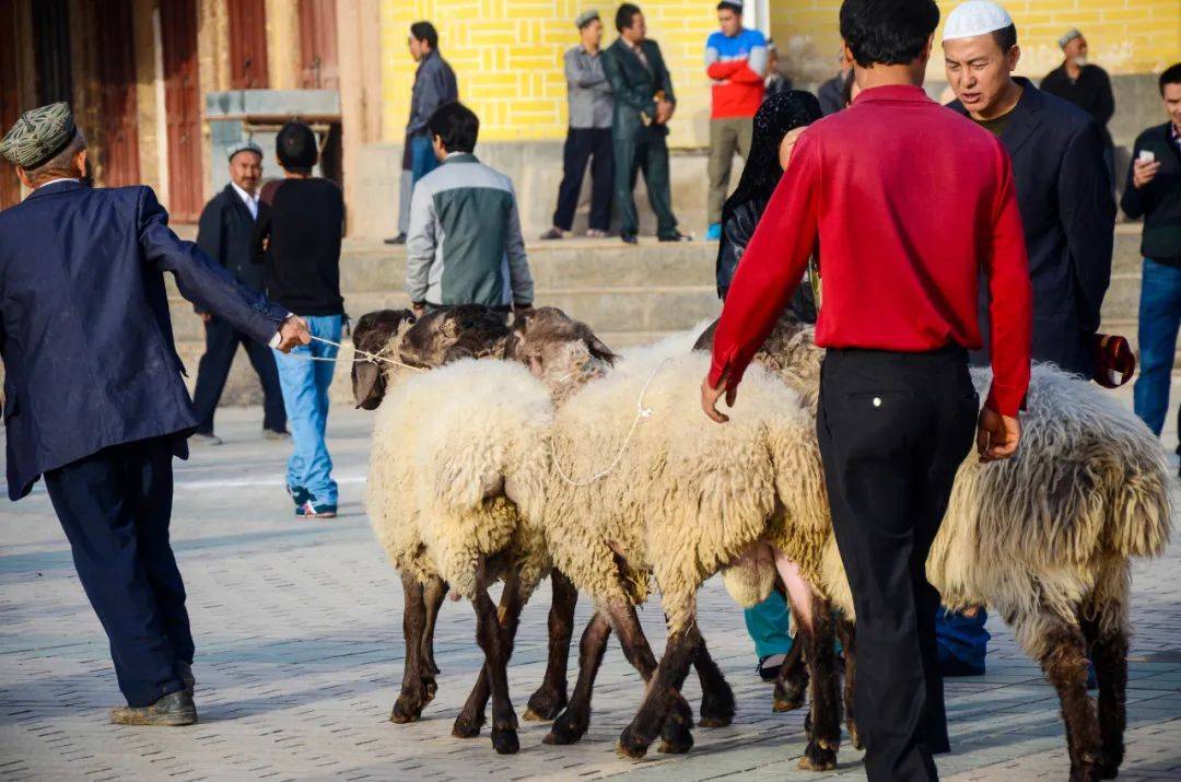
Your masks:
{"label": "light brown sheep head, right of the two darker heads", "polygon": [[556,307],[518,317],[513,331],[513,357],[559,399],[615,363],[615,354],[589,326]]}

